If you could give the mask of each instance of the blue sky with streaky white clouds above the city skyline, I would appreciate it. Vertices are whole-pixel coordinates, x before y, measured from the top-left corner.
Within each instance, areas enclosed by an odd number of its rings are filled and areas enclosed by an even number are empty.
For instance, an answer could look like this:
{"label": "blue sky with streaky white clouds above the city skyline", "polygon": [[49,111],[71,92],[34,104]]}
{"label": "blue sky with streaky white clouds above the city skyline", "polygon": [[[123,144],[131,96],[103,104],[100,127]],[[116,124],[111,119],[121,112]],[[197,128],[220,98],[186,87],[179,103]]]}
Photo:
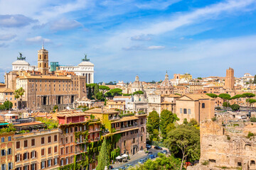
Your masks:
{"label": "blue sky with streaky white clouds above the city skyline", "polygon": [[255,0],[0,0],[0,80],[18,52],[37,64],[43,41],[50,62],[86,53],[96,82],[254,75],[255,16]]}

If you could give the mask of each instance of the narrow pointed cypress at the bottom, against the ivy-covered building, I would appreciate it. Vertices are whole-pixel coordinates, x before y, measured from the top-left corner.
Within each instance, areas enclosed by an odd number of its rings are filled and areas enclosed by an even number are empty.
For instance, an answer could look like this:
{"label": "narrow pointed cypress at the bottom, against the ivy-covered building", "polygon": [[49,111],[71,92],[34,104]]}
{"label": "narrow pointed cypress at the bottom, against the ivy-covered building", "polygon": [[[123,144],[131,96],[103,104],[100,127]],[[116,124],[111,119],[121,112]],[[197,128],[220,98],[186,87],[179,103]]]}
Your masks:
{"label": "narrow pointed cypress at the bottom, against the ivy-covered building", "polygon": [[107,142],[106,139],[103,140],[102,146],[100,148],[100,154],[97,159],[97,170],[104,170],[105,166],[108,166],[110,163],[110,158],[109,158],[110,152],[107,149]]}

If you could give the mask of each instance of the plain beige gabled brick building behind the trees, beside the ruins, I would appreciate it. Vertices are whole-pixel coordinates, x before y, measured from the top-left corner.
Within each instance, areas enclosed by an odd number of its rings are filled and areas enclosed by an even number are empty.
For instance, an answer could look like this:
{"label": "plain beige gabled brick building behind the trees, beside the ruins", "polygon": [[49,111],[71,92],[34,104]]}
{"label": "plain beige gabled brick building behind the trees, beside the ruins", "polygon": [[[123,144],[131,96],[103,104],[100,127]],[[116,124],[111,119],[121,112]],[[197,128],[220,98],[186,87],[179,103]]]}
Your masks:
{"label": "plain beige gabled brick building behind the trees, beside the ruins", "polygon": [[186,94],[176,99],[176,115],[179,123],[183,123],[186,118],[188,121],[196,119],[198,123],[201,120],[214,117],[215,100],[206,94]]}

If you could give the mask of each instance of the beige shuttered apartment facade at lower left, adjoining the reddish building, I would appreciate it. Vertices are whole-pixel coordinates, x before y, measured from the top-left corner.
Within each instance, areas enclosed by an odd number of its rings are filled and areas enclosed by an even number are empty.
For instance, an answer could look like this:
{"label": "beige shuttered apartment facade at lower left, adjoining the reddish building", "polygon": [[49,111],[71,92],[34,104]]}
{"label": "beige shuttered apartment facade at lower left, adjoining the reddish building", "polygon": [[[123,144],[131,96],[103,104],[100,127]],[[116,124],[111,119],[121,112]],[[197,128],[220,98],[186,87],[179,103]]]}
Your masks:
{"label": "beige shuttered apartment facade at lower left, adjoining the reddish building", "polygon": [[28,132],[15,135],[14,139],[14,168],[16,170],[58,168],[58,129]]}

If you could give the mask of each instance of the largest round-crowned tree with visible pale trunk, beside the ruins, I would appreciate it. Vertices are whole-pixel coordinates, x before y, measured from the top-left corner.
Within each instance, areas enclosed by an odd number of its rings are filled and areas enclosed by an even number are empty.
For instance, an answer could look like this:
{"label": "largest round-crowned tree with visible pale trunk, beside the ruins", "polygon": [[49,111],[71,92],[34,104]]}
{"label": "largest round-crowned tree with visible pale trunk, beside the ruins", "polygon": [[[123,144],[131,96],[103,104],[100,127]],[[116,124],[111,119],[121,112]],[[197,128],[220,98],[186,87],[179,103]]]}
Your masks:
{"label": "largest round-crowned tree with visible pale trunk, beside the ruins", "polygon": [[200,158],[200,131],[193,126],[179,125],[168,133],[164,142],[174,154],[181,154],[181,166],[186,159],[193,162]]}

